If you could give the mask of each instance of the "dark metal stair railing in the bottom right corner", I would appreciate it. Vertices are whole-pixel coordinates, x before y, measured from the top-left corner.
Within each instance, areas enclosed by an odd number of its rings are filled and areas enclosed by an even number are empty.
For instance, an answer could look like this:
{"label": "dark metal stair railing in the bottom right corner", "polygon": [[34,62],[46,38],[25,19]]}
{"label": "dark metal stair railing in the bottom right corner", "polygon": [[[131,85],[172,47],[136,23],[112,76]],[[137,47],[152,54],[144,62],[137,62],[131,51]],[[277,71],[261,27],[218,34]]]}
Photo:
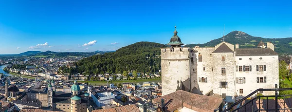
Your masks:
{"label": "dark metal stair railing in the bottom right corner", "polygon": [[[252,93],[250,93],[250,94],[248,94],[247,96],[245,96],[245,97],[243,97],[242,99],[240,99],[240,100],[238,100],[237,102],[235,102],[234,104],[232,104],[229,108],[227,108],[227,109],[224,109],[223,111],[221,111],[221,112],[238,112],[238,111],[240,111],[240,112],[250,112],[250,111],[246,111],[246,109],[251,109],[251,112],[260,112],[260,111],[275,111],[275,112],[278,112],[278,111],[281,111],[281,110],[292,110],[292,107],[288,107],[288,108],[286,108],[286,98],[287,97],[292,97],[292,94],[289,94],[289,95],[278,95],[278,91],[287,91],[287,90],[292,90],[292,88],[277,88],[277,84],[275,84],[275,88],[274,89],[257,89],[256,91],[254,91],[254,92],[252,92]],[[247,98],[249,98],[249,97],[251,97],[252,95],[254,95],[255,93],[257,93],[257,92],[259,92],[259,91],[262,91],[262,92],[266,92],[266,91],[275,91],[275,95],[262,95],[262,96],[256,96],[255,98],[253,98],[253,99],[251,99],[251,100],[249,100],[249,101],[247,101],[247,102],[244,102],[244,104],[242,104],[243,103],[243,101],[245,101]],[[275,98],[275,107],[274,107],[274,109],[271,109],[271,108],[273,108],[273,107],[269,107],[269,103],[268,103],[268,99],[269,99],[269,97],[273,97],[273,98]],[[279,104],[278,104],[278,97],[283,97],[284,98],[284,109],[279,109],[278,108],[278,106],[279,106]],[[266,108],[265,109],[261,109],[261,103],[260,103],[260,101],[261,101],[261,99],[263,100],[263,102],[264,102],[264,98],[266,98]],[[258,100],[258,104],[259,104],[259,108],[257,109],[254,109],[254,105],[257,105],[257,103],[256,103],[256,100]],[[264,104],[263,104],[263,102],[262,102],[262,106],[264,106]],[[292,102],[290,103],[291,105],[292,105]],[[240,106],[241,105],[241,106]],[[237,107],[236,109],[234,109],[234,107]],[[268,107],[270,108],[270,109],[268,109]],[[234,109],[234,110],[232,110],[232,109]],[[244,111],[243,111],[243,109],[244,109]],[[232,110],[232,111],[231,111]],[[219,110],[214,110],[214,112],[218,112]]]}

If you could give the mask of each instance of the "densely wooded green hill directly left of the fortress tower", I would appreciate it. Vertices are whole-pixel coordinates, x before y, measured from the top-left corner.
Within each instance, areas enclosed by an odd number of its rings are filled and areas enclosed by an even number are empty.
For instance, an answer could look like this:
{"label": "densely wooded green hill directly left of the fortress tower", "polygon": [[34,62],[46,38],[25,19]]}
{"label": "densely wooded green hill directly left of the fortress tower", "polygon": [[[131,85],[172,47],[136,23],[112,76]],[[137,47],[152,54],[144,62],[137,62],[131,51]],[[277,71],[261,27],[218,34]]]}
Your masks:
{"label": "densely wooded green hill directly left of the fortress tower", "polygon": [[157,72],[160,67],[160,48],[165,45],[153,42],[137,42],[118,49],[116,52],[95,55],[77,62],[78,72],[88,74]]}

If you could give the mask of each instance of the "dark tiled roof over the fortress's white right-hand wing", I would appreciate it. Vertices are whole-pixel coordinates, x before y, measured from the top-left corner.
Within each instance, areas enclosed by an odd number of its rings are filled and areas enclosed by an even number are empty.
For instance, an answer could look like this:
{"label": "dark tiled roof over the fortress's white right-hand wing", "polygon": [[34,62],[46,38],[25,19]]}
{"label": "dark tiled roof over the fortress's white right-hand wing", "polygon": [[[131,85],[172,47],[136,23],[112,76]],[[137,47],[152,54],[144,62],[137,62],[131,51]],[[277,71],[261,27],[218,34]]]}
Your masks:
{"label": "dark tiled roof over the fortress's white right-hand wing", "polygon": [[236,56],[275,56],[278,55],[270,48],[235,49]]}

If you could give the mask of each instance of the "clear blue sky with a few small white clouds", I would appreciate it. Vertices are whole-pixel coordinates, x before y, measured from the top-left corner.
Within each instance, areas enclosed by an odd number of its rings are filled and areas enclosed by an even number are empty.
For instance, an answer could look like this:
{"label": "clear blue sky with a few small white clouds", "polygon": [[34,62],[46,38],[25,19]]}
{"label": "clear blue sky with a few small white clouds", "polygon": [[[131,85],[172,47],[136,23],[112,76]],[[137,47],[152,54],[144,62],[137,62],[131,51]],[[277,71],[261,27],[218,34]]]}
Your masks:
{"label": "clear blue sky with a few small white clouds", "polygon": [[237,30],[292,37],[291,0],[0,0],[0,54],[111,51],[139,42],[205,43]]}

